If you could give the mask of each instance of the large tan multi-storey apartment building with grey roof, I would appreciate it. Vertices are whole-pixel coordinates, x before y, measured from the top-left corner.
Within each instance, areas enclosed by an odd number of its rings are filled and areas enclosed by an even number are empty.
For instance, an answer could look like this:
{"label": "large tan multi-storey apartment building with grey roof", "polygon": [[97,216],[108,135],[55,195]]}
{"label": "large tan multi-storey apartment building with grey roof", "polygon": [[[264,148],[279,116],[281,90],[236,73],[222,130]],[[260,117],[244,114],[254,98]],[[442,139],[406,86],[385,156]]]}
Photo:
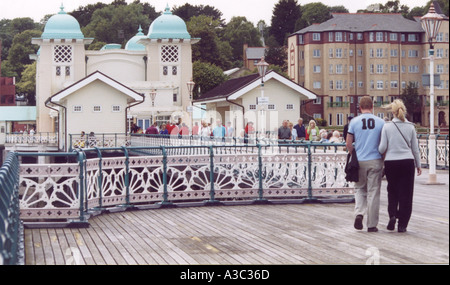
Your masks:
{"label": "large tan multi-storey apartment building with grey roof", "polygon": [[[435,72],[441,84],[435,89],[435,122],[448,126],[449,65],[448,18],[443,21],[435,45]],[[308,26],[288,39],[288,74],[313,91],[318,99],[303,102],[303,114],[342,126],[358,114],[362,96],[372,96],[374,113],[390,114],[382,108],[411,84],[418,87],[422,108],[409,110],[414,121],[429,124],[428,87],[422,74],[429,72],[429,45],[420,18],[401,14],[333,14],[333,18]],[[429,98],[429,96],[428,96]]]}

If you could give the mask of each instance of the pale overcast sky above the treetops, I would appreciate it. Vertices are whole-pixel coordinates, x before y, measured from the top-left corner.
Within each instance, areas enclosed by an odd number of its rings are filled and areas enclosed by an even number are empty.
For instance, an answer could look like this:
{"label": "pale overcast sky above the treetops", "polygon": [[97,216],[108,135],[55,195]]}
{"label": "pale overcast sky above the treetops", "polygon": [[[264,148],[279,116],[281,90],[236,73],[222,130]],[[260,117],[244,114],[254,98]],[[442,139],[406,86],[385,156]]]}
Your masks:
{"label": "pale overcast sky above the treetops", "polygon": [[[259,20],[265,20],[270,25],[272,10],[279,0],[141,0],[149,2],[156,11],[163,11],[167,4],[170,7],[182,6],[185,3],[191,5],[211,5],[223,13],[228,22],[233,16],[245,16],[247,20],[256,24]],[[66,12],[71,12],[79,6],[94,4],[97,2],[111,3],[112,0],[0,0],[0,19],[13,19],[18,17],[30,17],[35,21],[41,20],[47,14],[55,14],[59,11],[61,3],[64,3]],[[133,0],[127,0],[128,3]],[[301,5],[311,2],[322,2],[328,6],[344,5],[351,13],[358,9],[364,9],[373,3],[386,3],[387,0],[298,0]],[[416,6],[424,6],[427,0],[400,0],[402,5],[410,9]]]}

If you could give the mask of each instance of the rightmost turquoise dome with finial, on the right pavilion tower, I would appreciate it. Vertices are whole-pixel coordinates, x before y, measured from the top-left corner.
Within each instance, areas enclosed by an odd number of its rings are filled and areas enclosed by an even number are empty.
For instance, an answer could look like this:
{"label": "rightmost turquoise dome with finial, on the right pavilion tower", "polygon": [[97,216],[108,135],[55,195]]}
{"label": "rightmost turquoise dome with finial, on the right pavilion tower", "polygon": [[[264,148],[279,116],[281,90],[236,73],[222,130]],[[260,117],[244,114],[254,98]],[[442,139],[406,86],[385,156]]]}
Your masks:
{"label": "rightmost turquoise dome with finial, on the right pavilion tower", "polygon": [[172,15],[169,6],[156,18],[148,31],[150,39],[190,39],[186,23],[180,17]]}

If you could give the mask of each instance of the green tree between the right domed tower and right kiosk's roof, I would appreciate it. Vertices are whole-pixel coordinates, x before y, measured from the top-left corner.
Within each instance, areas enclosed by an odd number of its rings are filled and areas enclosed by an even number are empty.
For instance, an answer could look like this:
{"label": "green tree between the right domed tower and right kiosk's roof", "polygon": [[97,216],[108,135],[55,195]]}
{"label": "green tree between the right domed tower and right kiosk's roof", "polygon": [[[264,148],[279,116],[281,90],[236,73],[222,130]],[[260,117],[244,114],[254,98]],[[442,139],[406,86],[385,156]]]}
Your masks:
{"label": "green tree between the right domed tower and right kiosk's roof", "polygon": [[199,94],[199,89],[202,94],[206,93],[224,83],[227,79],[227,76],[223,73],[223,70],[220,67],[207,62],[194,62],[194,99],[198,99],[200,97],[201,94]]}

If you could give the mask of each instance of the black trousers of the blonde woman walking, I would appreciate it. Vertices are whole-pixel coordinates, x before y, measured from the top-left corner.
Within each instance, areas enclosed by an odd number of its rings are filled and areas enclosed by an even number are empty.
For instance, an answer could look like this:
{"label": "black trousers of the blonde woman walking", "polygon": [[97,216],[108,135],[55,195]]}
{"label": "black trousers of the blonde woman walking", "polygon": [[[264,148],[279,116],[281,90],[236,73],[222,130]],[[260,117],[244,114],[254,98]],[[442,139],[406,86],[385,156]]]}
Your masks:
{"label": "black trousers of the blonde woman walking", "polygon": [[407,227],[412,213],[415,166],[413,159],[384,162],[388,182],[389,217],[398,218],[399,227]]}

